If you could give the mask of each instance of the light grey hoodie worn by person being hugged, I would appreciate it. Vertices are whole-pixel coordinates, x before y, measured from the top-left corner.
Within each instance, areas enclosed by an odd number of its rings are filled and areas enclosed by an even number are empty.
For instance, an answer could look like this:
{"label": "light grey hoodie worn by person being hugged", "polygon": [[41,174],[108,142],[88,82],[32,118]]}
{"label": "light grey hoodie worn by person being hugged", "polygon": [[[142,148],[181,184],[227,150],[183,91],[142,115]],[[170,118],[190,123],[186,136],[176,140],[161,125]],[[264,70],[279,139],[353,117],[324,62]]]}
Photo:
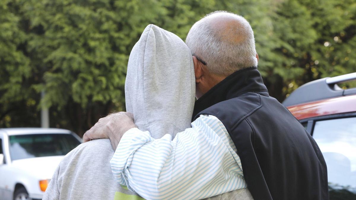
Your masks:
{"label": "light grey hoodie worn by person being hugged", "polygon": [[[195,95],[192,54],[176,35],[148,25],[133,47],[125,82],[126,111],[153,138],[190,127]],[[108,139],[80,144],[57,167],[43,199],[138,199],[111,172]],[[246,199],[247,189],[210,199]],[[251,195],[250,195],[251,196]]]}

